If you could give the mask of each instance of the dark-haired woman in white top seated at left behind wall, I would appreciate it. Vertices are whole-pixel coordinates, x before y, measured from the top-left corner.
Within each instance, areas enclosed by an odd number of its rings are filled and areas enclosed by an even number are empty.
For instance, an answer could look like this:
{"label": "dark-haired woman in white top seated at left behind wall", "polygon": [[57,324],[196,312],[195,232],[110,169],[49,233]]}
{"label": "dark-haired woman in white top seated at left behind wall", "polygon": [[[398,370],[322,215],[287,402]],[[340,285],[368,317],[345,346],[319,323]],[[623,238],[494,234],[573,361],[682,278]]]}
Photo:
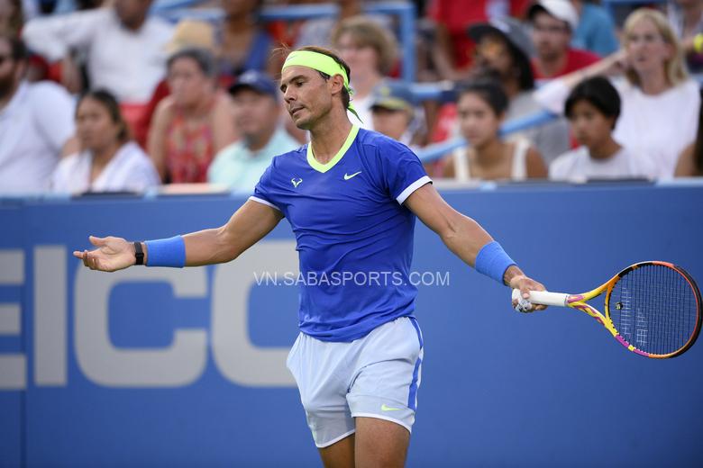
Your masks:
{"label": "dark-haired woman in white top seated at left behind wall", "polygon": [[51,178],[53,192],[142,192],[160,184],[151,159],[130,140],[112,94],[91,91],[81,96],[76,131],[82,151],[59,162]]}

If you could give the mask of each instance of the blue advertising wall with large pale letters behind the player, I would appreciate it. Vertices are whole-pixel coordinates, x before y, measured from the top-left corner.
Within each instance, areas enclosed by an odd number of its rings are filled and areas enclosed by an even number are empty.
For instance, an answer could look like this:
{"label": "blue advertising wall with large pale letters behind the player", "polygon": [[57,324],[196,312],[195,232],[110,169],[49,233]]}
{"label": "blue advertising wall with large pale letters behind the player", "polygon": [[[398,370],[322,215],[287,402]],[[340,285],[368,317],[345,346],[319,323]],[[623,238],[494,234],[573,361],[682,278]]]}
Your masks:
{"label": "blue advertising wall with large pale letters behind the player", "polygon": [[[647,259],[703,282],[701,186],[443,195],[552,291],[589,290]],[[243,201],[0,203],[0,465],[319,465],[285,368],[296,287],[256,284],[297,271],[285,220],[223,266],[105,274],[71,257],[88,234],[215,227]],[[408,466],[703,464],[703,345],[646,359],[581,312],[518,314],[507,288],[421,223],[413,269],[439,279],[419,286],[425,363]]]}

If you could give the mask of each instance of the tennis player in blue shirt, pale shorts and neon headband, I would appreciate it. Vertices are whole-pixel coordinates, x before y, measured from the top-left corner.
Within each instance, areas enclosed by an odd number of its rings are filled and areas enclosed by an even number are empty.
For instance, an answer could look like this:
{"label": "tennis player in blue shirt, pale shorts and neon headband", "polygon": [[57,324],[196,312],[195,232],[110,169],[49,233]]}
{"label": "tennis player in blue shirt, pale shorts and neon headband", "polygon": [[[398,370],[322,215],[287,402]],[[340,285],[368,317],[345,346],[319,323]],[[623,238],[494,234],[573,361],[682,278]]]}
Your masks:
{"label": "tennis player in blue shirt, pale shorts and neon headband", "polygon": [[91,237],[97,248],[74,256],[103,271],[224,263],[286,218],[297,239],[300,277],[307,278],[288,368],[323,463],[402,466],[423,359],[417,292],[409,281],[415,216],[479,272],[525,297],[544,288],[476,221],[443,201],[412,151],[352,125],[349,76],[329,50],[305,47],[288,55],[280,89],[311,141],[275,157],[224,226],[146,242]]}

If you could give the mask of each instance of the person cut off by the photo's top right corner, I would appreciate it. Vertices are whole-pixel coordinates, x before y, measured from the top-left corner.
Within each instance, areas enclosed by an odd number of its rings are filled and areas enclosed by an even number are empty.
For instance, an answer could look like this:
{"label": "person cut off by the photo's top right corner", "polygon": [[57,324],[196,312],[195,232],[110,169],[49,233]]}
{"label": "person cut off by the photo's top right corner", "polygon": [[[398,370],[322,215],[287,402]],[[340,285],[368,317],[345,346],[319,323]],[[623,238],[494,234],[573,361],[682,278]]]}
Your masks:
{"label": "person cut off by the photo's top right corner", "polygon": [[671,0],[668,3],[669,23],[683,45],[689,71],[703,71],[703,38],[698,49],[696,35],[703,34],[703,0]]}

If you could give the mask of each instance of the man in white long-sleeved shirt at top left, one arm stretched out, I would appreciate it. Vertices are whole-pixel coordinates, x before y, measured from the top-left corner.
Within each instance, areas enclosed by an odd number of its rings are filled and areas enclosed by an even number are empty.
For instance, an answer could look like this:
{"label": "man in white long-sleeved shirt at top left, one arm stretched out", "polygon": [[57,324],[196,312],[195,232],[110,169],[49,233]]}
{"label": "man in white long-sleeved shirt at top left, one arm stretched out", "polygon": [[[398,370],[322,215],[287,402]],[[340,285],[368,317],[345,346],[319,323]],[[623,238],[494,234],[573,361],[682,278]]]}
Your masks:
{"label": "man in white long-sleeved shirt at top left, one arm stretched out", "polygon": [[164,46],[173,31],[148,15],[150,7],[151,0],[114,0],[106,8],[36,18],[23,38],[50,62],[64,60],[64,68],[74,52],[84,55],[88,86],[114,94],[132,122],[164,76]]}

